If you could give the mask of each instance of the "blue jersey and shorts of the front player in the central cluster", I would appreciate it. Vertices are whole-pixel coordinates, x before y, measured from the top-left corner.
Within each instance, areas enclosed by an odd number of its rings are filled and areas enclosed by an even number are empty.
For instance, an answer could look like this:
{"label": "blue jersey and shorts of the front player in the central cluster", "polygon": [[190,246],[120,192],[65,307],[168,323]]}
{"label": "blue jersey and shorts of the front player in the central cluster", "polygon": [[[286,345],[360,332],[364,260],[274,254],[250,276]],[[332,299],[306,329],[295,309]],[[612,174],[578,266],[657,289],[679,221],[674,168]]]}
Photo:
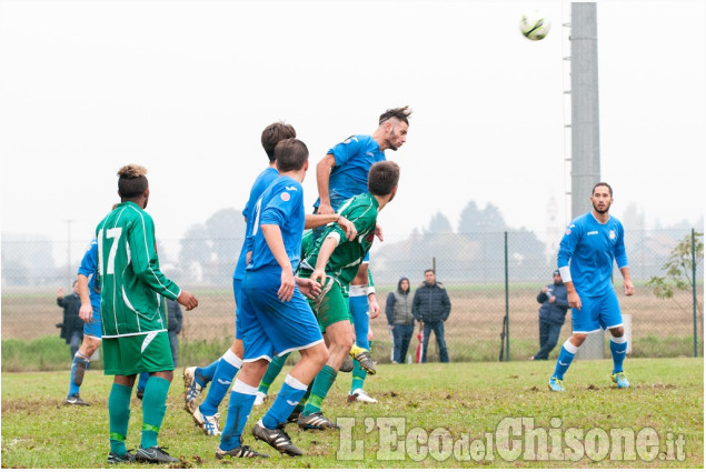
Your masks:
{"label": "blue jersey and shorts of the front player in the central cluster", "polygon": [[282,271],[260,229],[261,224],[280,228],[289,262],[296,269],[305,227],[301,183],[287,175],[277,178],[262,193],[252,220],[252,255],[242,282],[245,297],[237,323],[245,348],[243,362],[271,360],[274,354],[284,355],[324,342],[316,317],[297,285],[290,301],[279,300]]}

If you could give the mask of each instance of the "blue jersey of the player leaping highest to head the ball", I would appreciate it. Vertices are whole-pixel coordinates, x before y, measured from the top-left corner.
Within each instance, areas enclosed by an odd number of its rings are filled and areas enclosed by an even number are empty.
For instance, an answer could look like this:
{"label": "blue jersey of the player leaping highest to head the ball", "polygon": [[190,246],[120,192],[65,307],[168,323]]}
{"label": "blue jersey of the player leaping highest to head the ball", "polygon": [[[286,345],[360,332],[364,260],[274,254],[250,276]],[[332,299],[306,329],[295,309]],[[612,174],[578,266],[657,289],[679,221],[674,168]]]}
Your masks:
{"label": "blue jersey of the player leaping highest to head the ball", "polygon": [[[351,135],[346,141],[329,149],[336,165],[331,169],[328,193],[334,210],[346,200],[368,192],[368,172],[374,163],[385,160],[385,152],[372,137]],[[314,203],[319,207],[319,200]]]}

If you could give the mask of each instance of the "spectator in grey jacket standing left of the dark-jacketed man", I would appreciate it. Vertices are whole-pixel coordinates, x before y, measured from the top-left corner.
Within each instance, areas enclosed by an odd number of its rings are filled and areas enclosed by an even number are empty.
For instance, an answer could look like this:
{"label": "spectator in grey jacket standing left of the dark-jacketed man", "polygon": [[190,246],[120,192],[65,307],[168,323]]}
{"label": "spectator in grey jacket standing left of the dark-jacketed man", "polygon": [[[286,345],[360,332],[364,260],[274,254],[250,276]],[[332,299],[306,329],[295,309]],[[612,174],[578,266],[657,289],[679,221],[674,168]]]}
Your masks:
{"label": "spectator in grey jacket standing left of the dark-jacketed man", "polygon": [[387,295],[385,314],[392,333],[392,363],[402,364],[407,358],[407,349],[415,332],[415,315],[411,312],[412,300],[409,293],[409,279],[402,277],[397,290]]}

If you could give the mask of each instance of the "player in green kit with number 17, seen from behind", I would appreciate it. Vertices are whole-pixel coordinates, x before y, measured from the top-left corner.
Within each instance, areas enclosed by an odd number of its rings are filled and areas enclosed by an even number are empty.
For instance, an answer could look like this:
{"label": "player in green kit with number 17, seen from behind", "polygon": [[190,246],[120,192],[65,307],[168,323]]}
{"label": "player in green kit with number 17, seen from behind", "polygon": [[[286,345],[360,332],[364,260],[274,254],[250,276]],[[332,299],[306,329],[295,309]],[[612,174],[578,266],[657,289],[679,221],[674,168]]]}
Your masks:
{"label": "player in green kit with number 17, seen from behind", "polygon": [[[108,411],[110,416],[109,463],[178,462],[157,445],[167,410],[167,392],[173,362],[167,333],[162,297],[177,300],[187,310],[198,305],[159,270],[155,223],[145,212],[149,199],[147,170],[126,165],[118,171],[118,204],[98,224],[98,269],[103,331],[103,369],[115,375]],[[142,399],[142,438],[137,453],[125,444],[130,420],[130,396],[136,375],[149,372]]]}

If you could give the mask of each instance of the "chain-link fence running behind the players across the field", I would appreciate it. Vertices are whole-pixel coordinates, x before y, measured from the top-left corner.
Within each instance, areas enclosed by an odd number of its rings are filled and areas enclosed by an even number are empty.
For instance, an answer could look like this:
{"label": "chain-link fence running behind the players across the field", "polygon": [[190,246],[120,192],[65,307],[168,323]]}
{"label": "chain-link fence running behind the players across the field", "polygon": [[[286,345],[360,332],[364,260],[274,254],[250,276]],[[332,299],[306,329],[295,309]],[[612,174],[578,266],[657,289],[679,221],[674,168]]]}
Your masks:
{"label": "chain-link fence running behind the players across the field", "polygon": [[[664,265],[692,231],[628,229],[626,247],[635,295],[622,294],[623,279],[617,269],[614,281],[622,310],[632,318],[634,356],[703,355],[703,249],[695,261],[696,299],[690,290],[690,270],[684,272],[688,290],[677,289],[669,299],[657,298],[648,283],[653,277],[665,275]],[[451,314],[445,325],[451,362],[497,361],[503,343],[509,348],[505,353],[509,359],[528,359],[539,345],[536,297],[553,280],[559,238],[551,234],[543,239],[528,231],[415,233],[387,235],[384,243],[376,242],[370,269],[382,309],[380,317],[370,322],[376,360],[390,361],[391,340],[385,317],[388,293],[402,275],[416,289],[426,269],[436,270],[451,300]],[[703,237],[697,233],[696,240],[703,248]],[[61,321],[62,312],[56,304],[56,292],[60,287],[70,290],[87,243],[2,240],[3,341],[58,337],[54,324]],[[241,239],[158,241],[165,274],[199,299],[198,309],[185,311],[179,335],[181,364],[220,355],[232,340],[232,271],[241,243]],[[508,338],[501,340],[506,314]],[[569,311],[559,343],[570,334],[570,325]],[[410,353],[416,344],[412,338]],[[428,359],[438,359],[434,338]]]}

